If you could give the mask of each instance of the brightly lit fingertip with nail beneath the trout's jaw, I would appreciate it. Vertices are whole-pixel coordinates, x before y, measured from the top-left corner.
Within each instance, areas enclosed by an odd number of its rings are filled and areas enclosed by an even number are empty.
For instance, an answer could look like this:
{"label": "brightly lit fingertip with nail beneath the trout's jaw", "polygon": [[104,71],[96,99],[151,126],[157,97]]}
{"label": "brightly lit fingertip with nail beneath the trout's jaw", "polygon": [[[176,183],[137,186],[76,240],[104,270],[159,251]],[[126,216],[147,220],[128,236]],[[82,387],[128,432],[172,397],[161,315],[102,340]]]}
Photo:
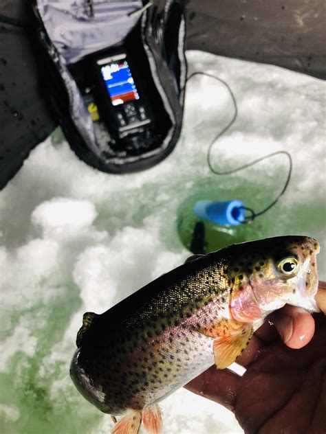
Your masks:
{"label": "brightly lit fingertip with nail beneath the trout's jaw", "polygon": [[290,348],[302,348],[314,336],[314,319],[301,308],[285,305],[283,309],[274,312],[272,321],[283,342]]}

